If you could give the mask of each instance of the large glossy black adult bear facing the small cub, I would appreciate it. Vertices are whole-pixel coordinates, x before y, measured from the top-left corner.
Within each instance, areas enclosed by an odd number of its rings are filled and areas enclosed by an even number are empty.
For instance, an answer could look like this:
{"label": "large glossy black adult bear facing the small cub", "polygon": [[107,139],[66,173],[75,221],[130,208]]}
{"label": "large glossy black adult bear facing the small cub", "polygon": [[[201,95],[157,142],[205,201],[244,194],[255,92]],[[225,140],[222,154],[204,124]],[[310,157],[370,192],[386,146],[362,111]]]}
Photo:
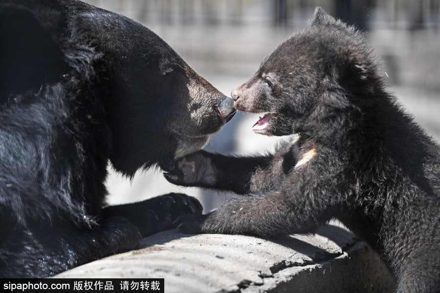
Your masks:
{"label": "large glossy black adult bear facing the small cub", "polygon": [[103,210],[108,160],[131,176],[194,152],[233,103],[135,21],[76,0],[2,0],[0,276],[63,272],[201,213],[174,193]]}

